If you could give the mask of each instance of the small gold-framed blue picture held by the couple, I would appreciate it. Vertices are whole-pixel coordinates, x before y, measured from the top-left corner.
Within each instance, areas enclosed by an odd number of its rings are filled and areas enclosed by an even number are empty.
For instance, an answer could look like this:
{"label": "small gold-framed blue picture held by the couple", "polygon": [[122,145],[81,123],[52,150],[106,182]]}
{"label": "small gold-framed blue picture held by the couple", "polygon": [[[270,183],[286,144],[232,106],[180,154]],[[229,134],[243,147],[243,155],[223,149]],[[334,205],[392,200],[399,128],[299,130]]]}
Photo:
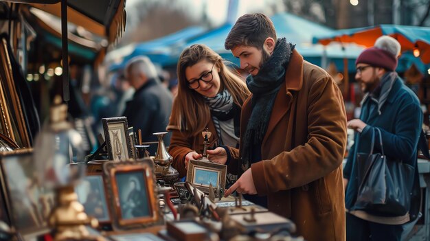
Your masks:
{"label": "small gold-framed blue picture held by the couple", "polygon": [[187,180],[203,192],[209,192],[209,186],[220,187],[225,190],[227,165],[209,161],[190,160],[187,169]]}

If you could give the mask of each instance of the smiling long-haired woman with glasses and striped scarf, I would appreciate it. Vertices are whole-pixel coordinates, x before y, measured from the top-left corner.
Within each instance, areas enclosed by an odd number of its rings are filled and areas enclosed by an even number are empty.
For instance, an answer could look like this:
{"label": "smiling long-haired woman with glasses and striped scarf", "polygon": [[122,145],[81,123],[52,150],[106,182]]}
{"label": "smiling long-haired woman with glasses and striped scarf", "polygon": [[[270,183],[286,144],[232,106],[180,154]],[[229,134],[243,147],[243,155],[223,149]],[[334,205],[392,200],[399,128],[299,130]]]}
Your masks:
{"label": "smiling long-haired woman with glasses and striped scarf", "polygon": [[223,58],[205,45],[184,49],[177,71],[179,89],[168,125],[172,131],[169,152],[172,166],[182,177],[188,161],[201,158],[205,128],[212,133],[210,148],[239,146],[240,111],[249,91]]}

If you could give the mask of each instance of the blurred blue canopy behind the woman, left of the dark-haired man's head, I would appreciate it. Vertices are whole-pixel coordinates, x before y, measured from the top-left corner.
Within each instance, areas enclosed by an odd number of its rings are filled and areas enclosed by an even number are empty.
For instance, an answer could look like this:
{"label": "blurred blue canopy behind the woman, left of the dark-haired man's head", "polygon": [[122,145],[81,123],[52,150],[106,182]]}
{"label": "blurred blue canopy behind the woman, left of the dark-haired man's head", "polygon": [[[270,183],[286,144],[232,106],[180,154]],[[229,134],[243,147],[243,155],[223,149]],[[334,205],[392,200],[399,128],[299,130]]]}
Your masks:
{"label": "blurred blue canopy behind the woman, left of the dark-haired man's head", "polygon": [[177,58],[174,60],[171,59],[172,45],[181,45],[188,38],[199,35],[204,31],[205,28],[200,26],[186,27],[183,30],[152,41],[130,45],[125,47],[122,52],[112,51],[113,54],[106,55],[107,61],[110,60],[109,58],[116,58],[116,60],[112,61],[113,64],[110,65],[109,70],[115,71],[124,68],[126,62],[135,56],[148,56],[152,62],[161,66],[166,66],[170,62],[176,62]]}

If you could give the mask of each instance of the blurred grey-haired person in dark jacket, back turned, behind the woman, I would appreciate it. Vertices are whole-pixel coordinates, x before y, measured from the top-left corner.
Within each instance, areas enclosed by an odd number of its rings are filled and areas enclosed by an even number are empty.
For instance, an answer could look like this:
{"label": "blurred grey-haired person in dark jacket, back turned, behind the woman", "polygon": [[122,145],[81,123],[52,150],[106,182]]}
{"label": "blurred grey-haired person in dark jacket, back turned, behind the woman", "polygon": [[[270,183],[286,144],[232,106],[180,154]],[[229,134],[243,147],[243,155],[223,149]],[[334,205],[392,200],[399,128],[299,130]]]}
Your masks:
{"label": "blurred grey-haired person in dark jacket, back turned, behind the woman", "polygon": [[[133,126],[135,133],[142,130],[142,141],[157,141],[152,133],[166,131],[172,112],[172,94],[161,84],[155,66],[146,56],[129,60],[124,73],[135,89],[123,114],[128,119],[128,126]],[[164,138],[166,146],[170,144],[170,135],[168,133]],[[157,144],[151,144],[148,151],[155,154]]]}

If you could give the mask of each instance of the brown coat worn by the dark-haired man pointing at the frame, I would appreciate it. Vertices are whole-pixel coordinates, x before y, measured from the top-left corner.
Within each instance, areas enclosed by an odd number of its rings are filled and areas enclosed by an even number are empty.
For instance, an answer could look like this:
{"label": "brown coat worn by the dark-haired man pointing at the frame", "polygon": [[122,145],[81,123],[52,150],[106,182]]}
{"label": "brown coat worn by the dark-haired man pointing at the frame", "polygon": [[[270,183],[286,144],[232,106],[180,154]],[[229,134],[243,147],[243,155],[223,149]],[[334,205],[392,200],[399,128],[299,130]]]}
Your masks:
{"label": "brown coat worn by the dark-haired man pointing at the frame", "polygon": [[[250,100],[242,106],[241,137],[251,116]],[[326,71],[294,51],[262,141],[263,161],[251,170],[269,210],[293,220],[305,240],[346,240],[345,148],[346,112],[339,88]],[[237,150],[230,150],[237,158]],[[238,161],[232,159],[229,169],[237,170]]]}

